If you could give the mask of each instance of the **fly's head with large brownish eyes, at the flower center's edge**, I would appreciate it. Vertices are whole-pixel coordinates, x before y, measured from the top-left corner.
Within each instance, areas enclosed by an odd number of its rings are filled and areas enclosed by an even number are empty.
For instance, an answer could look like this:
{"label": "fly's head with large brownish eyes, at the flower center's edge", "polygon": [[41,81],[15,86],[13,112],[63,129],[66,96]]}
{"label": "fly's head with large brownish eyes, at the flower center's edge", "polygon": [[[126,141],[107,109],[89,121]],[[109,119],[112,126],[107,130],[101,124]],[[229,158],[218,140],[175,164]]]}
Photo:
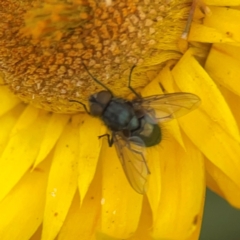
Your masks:
{"label": "fly's head with large brownish eyes, at the flower center's edge", "polygon": [[105,90],[91,95],[89,98],[90,114],[101,117],[111,99],[111,92]]}

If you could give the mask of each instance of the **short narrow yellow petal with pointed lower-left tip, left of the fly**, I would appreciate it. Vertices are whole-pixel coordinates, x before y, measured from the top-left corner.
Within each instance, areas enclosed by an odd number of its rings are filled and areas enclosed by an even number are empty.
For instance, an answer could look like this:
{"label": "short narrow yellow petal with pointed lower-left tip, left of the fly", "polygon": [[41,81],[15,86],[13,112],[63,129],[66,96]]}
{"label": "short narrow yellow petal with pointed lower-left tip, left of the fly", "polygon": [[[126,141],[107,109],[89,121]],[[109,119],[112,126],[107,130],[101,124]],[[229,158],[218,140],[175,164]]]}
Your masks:
{"label": "short narrow yellow petal with pointed lower-left tip, left of the fly", "polygon": [[69,115],[56,113],[52,114],[50,121],[46,127],[44,138],[33,168],[36,167],[41,161],[43,161],[48,153],[52,150],[56,141],[61,135],[68,119]]}

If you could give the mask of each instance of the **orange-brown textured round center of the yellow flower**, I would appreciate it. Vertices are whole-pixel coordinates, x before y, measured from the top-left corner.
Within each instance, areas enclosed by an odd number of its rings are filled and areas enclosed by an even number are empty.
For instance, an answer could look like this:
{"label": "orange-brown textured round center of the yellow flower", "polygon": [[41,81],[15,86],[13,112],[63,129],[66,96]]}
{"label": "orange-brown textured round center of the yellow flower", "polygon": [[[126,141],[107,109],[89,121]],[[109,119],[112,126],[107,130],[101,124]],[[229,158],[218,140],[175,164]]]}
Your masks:
{"label": "orange-brown textured round center of the yellow flower", "polygon": [[[161,64],[179,59],[185,1],[1,1],[0,71],[23,101],[55,112],[76,112],[69,99],[87,103],[101,90],[126,96],[156,76]],[[17,16],[17,17],[16,17]],[[76,106],[75,106],[76,107]]]}

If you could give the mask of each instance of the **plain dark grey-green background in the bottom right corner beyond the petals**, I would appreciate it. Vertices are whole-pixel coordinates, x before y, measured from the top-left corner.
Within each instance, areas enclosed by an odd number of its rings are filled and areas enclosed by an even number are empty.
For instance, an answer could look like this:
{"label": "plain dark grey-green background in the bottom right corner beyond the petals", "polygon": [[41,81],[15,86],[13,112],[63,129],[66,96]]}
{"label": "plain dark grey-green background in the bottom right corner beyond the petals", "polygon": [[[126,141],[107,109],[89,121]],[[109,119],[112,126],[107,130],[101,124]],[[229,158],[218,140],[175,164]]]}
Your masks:
{"label": "plain dark grey-green background in the bottom right corner beyond the petals", "polygon": [[199,240],[240,240],[240,210],[210,190],[206,194]]}

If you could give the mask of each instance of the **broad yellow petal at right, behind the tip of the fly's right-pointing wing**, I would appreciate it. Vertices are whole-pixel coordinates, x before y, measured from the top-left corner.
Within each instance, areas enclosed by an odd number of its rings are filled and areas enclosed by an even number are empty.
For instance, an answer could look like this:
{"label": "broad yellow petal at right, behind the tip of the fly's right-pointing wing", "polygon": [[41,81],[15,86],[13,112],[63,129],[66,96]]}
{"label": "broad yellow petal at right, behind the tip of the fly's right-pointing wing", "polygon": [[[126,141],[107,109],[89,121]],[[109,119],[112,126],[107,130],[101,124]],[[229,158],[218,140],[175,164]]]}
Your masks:
{"label": "broad yellow petal at right, behind the tip of the fly's right-pointing wing", "polygon": [[[239,133],[225,99],[190,51],[172,72],[181,90],[196,93],[202,99],[203,110],[179,119],[181,127],[204,155],[231,179],[234,188],[240,190]],[[239,190],[232,194],[237,197]],[[236,206],[232,198],[228,199]]]}

